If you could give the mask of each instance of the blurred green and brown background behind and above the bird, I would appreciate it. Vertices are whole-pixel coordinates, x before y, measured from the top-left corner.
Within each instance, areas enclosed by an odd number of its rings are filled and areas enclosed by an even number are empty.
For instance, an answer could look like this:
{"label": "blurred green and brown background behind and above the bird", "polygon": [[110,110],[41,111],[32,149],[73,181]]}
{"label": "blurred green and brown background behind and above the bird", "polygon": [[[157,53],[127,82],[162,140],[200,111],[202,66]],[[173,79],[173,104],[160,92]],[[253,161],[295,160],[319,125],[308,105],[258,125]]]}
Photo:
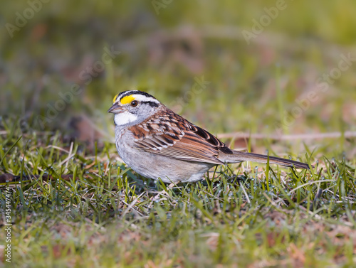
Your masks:
{"label": "blurred green and brown background behind and above the bird", "polygon": [[3,0],[0,111],[23,131],[111,140],[112,97],[138,88],[214,134],[355,131],[355,11],[354,0]]}

